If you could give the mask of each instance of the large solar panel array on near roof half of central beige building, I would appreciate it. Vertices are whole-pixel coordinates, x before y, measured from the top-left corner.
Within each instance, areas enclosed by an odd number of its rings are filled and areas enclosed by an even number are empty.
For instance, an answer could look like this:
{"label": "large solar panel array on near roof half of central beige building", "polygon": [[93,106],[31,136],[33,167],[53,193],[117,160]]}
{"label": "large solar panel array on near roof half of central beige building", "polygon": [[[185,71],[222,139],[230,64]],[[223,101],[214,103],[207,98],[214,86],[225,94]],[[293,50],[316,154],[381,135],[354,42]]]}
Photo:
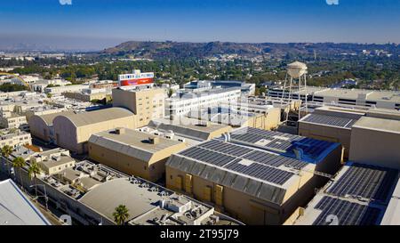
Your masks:
{"label": "large solar panel array on near roof half of central beige building", "polygon": [[279,166],[307,166],[297,159],[219,140],[201,143],[181,151],[180,155],[280,185],[287,182],[293,173],[279,169]]}

